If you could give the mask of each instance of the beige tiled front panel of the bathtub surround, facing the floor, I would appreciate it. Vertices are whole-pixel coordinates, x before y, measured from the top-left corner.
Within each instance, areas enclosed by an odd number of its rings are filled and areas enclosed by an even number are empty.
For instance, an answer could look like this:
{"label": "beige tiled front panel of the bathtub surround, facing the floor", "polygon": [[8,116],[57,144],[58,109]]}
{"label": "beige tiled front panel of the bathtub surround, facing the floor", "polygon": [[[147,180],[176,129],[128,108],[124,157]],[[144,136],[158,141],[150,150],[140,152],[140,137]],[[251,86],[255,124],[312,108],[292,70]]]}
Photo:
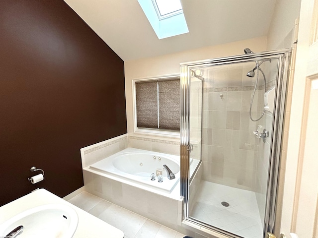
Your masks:
{"label": "beige tiled front panel of the bathtub surround, facing the floor", "polygon": [[83,176],[86,192],[171,229],[177,230],[177,225],[181,225],[182,200],[179,196],[159,194],[154,189],[146,190],[99,172],[83,170]]}

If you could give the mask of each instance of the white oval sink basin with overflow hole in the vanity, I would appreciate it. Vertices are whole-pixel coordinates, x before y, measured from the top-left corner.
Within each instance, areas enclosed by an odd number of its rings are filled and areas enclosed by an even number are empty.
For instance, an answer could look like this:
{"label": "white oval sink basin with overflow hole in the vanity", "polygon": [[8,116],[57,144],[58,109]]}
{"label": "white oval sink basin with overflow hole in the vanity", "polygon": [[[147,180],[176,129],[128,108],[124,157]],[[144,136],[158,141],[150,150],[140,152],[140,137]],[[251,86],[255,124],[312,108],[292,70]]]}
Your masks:
{"label": "white oval sink basin with overflow hole in the vanity", "polygon": [[72,238],[79,223],[76,211],[64,204],[37,206],[21,212],[0,225],[0,237],[19,226],[17,238]]}

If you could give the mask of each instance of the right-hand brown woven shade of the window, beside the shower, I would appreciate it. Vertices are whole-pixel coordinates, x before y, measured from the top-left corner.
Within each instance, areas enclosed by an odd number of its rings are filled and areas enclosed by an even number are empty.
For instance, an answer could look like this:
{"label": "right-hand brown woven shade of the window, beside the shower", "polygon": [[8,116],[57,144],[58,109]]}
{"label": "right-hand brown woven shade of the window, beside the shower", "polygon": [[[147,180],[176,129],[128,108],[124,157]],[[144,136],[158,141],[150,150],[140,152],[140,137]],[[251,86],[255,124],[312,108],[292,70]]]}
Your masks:
{"label": "right-hand brown woven shade of the window, beside the shower", "polygon": [[180,130],[180,79],[158,81],[159,128]]}

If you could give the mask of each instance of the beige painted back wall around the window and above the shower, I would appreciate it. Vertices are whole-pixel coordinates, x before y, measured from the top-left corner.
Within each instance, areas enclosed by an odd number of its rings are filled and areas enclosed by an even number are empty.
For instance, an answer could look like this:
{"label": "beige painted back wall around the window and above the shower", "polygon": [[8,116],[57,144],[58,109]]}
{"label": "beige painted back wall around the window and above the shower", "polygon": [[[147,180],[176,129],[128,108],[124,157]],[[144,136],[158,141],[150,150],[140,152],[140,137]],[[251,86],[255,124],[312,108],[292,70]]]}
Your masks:
{"label": "beige painted back wall around the window and above the shower", "polygon": [[265,51],[266,37],[210,46],[155,58],[126,61],[125,91],[128,134],[134,132],[132,79],[180,73],[181,62],[242,55],[244,48],[250,48],[254,52]]}

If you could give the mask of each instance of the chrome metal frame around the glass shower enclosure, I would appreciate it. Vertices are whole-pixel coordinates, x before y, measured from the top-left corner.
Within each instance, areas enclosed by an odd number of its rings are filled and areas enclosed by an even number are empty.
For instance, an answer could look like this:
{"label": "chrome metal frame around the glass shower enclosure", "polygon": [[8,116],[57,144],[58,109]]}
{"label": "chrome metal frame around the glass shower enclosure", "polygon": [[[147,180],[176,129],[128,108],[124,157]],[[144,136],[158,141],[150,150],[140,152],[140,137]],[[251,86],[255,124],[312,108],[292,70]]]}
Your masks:
{"label": "chrome metal frame around the glass shower enclosure", "polygon": [[276,198],[278,189],[280,151],[283,132],[283,119],[285,110],[285,98],[287,90],[287,78],[292,49],[251,53],[239,56],[200,60],[180,63],[181,80],[181,128],[180,128],[180,192],[183,198],[183,224],[193,228],[205,228],[210,234],[221,234],[232,238],[240,238],[237,235],[212,227],[209,224],[189,217],[189,158],[190,158],[190,78],[191,70],[198,67],[210,67],[217,65],[229,65],[242,62],[255,62],[262,60],[278,60],[276,95],[273,115],[272,143],[270,148],[270,161],[267,181],[267,197],[264,222],[264,236],[267,232],[273,232],[276,215]]}

